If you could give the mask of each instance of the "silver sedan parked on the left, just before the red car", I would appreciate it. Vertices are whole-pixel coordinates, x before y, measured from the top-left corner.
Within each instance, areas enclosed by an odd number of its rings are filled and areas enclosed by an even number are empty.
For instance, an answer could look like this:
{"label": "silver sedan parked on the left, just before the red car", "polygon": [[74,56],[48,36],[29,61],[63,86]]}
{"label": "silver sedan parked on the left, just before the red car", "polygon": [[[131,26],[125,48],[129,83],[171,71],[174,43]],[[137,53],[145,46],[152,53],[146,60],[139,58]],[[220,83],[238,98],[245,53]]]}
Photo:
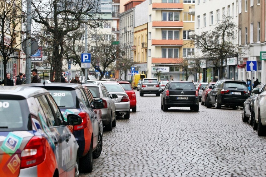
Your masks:
{"label": "silver sedan parked on the left, just before the red car", "polygon": [[117,98],[113,98],[116,105],[116,115],[124,115],[125,119],[130,117],[130,101],[123,87],[117,82],[102,82],[110,95],[116,94]]}

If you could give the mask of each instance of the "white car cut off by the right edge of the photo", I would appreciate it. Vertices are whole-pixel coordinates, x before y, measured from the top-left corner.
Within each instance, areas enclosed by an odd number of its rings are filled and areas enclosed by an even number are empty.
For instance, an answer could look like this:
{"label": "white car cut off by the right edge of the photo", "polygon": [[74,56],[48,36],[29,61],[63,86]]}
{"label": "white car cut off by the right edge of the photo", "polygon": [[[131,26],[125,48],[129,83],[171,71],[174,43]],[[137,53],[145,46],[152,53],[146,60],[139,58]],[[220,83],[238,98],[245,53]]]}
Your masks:
{"label": "white car cut off by the right edge of the photo", "polygon": [[261,92],[259,88],[252,89],[252,93],[259,94],[254,100],[254,120],[253,129],[257,128],[258,135],[263,136],[266,134],[266,85],[262,88]]}

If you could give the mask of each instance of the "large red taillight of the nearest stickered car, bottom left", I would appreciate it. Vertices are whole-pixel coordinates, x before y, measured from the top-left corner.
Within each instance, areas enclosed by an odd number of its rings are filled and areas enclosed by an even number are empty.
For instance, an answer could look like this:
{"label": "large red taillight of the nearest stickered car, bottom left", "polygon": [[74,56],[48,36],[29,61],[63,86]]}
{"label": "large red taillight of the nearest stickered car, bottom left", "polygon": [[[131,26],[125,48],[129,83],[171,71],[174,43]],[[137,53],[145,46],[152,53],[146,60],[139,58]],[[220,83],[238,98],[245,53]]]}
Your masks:
{"label": "large red taillight of the nearest stickered car, bottom left", "polygon": [[21,152],[21,169],[39,165],[44,161],[46,141],[42,136],[34,136],[30,139]]}

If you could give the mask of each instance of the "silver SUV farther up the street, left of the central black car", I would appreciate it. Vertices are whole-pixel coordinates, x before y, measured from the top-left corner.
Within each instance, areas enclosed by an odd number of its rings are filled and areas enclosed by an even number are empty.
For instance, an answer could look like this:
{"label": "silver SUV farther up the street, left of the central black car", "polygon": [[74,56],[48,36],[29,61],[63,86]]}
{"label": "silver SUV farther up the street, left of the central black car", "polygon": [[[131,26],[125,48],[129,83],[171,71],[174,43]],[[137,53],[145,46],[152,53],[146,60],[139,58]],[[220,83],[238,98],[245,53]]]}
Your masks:
{"label": "silver SUV farther up the street, left of the central black car", "polygon": [[144,94],[156,94],[160,96],[160,85],[156,78],[144,78],[140,83],[140,96]]}

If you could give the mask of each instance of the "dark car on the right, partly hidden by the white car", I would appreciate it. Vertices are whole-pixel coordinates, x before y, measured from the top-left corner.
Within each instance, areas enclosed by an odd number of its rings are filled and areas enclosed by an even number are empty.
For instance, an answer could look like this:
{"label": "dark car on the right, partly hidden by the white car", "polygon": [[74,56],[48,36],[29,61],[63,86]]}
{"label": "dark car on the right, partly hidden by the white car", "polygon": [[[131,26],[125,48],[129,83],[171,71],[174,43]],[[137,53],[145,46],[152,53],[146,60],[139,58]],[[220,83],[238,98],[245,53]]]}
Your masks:
{"label": "dark car on the right, partly hidden by the white car", "polygon": [[[259,88],[259,92],[262,91],[263,84],[259,84],[255,88]],[[254,109],[252,110],[252,105],[251,103],[254,102],[254,100],[257,98],[259,94],[251,93],[249,98],[245,100],[244,105],[243,105],[243,111],[242,111],[242,121],[243,122],[249,122],[249,125],[252,125],[253,123],[253,113]]]}

